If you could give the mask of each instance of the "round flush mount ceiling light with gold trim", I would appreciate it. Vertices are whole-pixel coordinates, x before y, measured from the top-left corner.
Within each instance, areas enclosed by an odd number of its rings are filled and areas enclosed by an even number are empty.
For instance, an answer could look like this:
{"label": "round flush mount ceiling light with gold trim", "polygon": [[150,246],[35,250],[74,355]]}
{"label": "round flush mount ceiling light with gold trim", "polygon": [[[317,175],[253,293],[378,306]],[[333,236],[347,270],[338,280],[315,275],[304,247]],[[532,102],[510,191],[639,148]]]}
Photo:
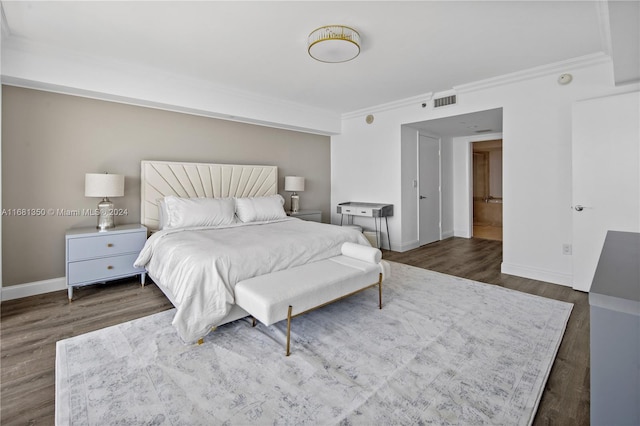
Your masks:
{"label": "round flush mount ceiling light with gold trim", "polygon": [[327,25],[309,34],[309,55],[320,62],[347,62],[360,54],[360,34],[343,25]]}

